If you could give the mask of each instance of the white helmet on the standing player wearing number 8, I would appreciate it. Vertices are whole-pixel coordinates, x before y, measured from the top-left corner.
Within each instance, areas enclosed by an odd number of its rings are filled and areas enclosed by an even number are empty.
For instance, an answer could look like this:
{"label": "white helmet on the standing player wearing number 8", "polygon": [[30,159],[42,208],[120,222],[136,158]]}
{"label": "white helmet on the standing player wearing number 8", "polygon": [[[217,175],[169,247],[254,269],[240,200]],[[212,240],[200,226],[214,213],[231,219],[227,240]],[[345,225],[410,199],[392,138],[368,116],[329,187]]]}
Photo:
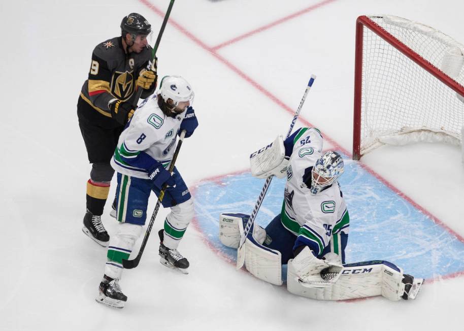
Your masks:
{"label": "white helmet on the standing player wearing number 8", "polygon": [[168,103],[168,99],[171,99],[174,102],[174,107],[177,107],[182,101],[189,101],[190,106],[193,103],[193,89],[181,76],[164,76],[159,92],[164,102]]}

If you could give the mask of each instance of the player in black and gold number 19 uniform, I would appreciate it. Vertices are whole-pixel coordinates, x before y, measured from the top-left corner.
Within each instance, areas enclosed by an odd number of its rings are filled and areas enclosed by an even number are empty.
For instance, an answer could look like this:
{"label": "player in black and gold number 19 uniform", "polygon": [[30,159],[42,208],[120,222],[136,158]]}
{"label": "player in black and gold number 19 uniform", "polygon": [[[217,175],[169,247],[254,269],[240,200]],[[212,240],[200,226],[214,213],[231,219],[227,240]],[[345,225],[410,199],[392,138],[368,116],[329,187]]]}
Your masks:
{"label": "player in black and gold number 19 uniform", "polygon": [[110,160],[119,135],[136,109],[137,89],[144,89],[142,98],[156,89],[157,59],[151,61],[150,34],[151,25],[142,15],[125,16],[121,36],[94,48],[88,79],[77,103],[79,127],[92,163],[82,230],[102,246],[109,241],[101,215],[114,173]]}

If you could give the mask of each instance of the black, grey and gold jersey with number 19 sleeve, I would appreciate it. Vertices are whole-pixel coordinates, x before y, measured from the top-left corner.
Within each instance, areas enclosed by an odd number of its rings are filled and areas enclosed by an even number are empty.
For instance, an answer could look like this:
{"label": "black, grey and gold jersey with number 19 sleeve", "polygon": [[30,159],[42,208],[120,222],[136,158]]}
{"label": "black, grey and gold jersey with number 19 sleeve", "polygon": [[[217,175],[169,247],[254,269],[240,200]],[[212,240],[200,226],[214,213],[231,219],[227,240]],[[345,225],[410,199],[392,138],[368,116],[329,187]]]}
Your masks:
{"label": "black, grey and gold jersey with number 19 sleeve", "polygon": [[98,44],[93,50],[88,79],[84,82],[80,94],[80,98],[85,103],[79,102],[78,106],[87,108],[81,109],[81,113],[87,113],[87,117],[91,117],[91,120],[101,115],[111,118],[108,109],[110,100],[117,98],[137,104],[135,101],[137,78],[140,71],[149,64],[151,53],[152,48],[147,46],[140,53],[126,54],[121,37]]}

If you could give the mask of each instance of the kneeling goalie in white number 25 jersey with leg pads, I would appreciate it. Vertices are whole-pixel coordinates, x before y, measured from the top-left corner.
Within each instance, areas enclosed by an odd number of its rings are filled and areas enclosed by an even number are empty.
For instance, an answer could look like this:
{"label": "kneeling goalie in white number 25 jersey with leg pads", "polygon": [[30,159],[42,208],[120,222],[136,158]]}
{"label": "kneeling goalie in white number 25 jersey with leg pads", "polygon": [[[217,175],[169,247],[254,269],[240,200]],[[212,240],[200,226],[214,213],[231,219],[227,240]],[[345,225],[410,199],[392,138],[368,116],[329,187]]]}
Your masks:
{"label": "kneeling goalie in white number 25 jersey with leg pads", "polygon": [[[316,128],[300,128],[250,156],[258,178],[286,176],[282,210],[266,228],[251,227],[242,252],[246,269],[262,280],[282,284],[287,264],[287,289],[317,300],[348,300],[383,295],[389,300],[414,299],[423,279],[403,274],[383,261],[345,263],[349,215],[338,178],[342,157],[322,154]],[[220,215],[221,242],[238,248],[249,215]]]}

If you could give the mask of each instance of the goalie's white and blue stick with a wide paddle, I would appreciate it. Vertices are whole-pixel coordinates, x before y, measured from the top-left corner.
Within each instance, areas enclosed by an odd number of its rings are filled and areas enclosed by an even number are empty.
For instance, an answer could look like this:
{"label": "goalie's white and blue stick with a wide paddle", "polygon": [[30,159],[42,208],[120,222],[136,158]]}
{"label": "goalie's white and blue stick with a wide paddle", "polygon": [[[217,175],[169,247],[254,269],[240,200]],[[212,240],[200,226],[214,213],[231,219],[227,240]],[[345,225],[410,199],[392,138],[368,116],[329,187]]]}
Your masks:
{"label": "goalie's white and blue stick with a wide paddle", "polygon": [[[300,101],[300,105],[296,109],[295,116],[293,116],[293,119],[290,124],[290,128],[288,129],[287,137],[285,137],[285,139],[290,137],[291,130],[293,129],[293,126],[295,125],[296,119],[298,118],[298,116],[300,116],[300,112],[301,112],[301,109],[303,108],[303,104],[305,103],[306,96],[308,95],[308,92],[311,89],[311,86],[313,86],[315,79],[316,79],[316,75],[311,75],[311,78],[309,79],[309,82],[308,82],[308,86],[306,86],[305,93],[303,94],[303,97]],[[245,226],[243,234],[240,237],[240,245],[239,245],[239,249],[237,250],[237,270],[241,269],[245,262],[245,252],[243,251],[243,244],[245,243],[248,233],[250,232],[250,228],[254,223],[256,214],[258,213],[259,207],[261,207],[261,203],[264,199],[264,195],[266,195],[266,192],[268,191],[269,185],[271,184],[273,177],[274,176],[271,175],[266,179],[266,182],[264,183],[264,186],[261,189],[261,193],[259,194],[258,200],[256,201],[256,204],[254,206],[253,212],[251,213],[251,216],[248,219],[248,222],[247,222],[247,225]]]}

